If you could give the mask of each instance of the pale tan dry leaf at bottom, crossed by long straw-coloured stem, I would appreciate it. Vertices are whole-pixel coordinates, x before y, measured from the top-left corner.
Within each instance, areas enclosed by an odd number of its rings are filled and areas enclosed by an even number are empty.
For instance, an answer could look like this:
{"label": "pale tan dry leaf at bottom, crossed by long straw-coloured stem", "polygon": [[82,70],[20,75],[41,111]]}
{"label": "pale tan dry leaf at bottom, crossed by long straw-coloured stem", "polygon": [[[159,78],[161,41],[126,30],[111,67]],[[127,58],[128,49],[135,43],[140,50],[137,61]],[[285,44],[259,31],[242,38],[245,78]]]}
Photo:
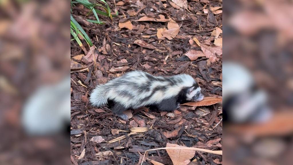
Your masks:
{"label": "pale tan dry leaf at bottom, crossed by long straw-coloured stem", "polygon": [[[166,147],[183,147],[177,144],[167,143]],[[195,155],[194,150],[186,150],[186,149],[166,149],[168,155],[170,156],[173,165],[187,165],[190,163],[190,159],[192,159]]]}

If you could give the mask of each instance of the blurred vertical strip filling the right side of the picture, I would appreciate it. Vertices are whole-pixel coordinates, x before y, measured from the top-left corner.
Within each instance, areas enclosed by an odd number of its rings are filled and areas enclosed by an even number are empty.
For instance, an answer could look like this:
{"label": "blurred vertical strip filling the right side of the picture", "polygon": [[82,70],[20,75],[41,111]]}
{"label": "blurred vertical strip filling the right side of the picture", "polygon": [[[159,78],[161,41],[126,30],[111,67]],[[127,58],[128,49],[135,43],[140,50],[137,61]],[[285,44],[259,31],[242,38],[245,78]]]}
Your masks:
{"label": "blurred vertical strip filling the right side of the picture", "polygon": [[292,164],[293,1],[223,2],[225,165]]}

